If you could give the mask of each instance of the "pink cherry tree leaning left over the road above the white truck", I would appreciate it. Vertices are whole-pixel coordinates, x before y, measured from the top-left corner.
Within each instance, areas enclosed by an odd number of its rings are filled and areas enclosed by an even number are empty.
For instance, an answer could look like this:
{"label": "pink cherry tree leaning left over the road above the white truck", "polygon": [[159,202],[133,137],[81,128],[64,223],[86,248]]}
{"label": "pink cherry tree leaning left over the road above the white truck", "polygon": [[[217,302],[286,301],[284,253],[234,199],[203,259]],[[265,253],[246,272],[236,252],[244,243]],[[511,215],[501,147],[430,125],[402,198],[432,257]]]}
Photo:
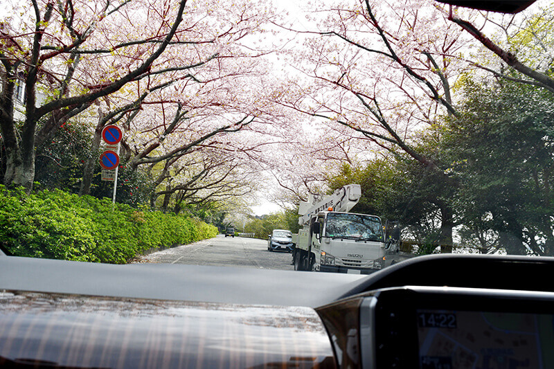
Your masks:
{"label": "pink cherry tree leaning left over the road above the white truck", "polygon": [[[291,52],[305,78],[291,81],[294,92],[280,102],[320,118],[329,136],[359,141],[362,160],[401,150],[449,183],[418,150],[418,132],[458,114],[451,84],[467,67],[470,37],[434,1],[338,2],[312,19],[317,29],[303,33],[309,52]],[[442,242],[452,244],[454,214],[448,204],[441,211]]]}

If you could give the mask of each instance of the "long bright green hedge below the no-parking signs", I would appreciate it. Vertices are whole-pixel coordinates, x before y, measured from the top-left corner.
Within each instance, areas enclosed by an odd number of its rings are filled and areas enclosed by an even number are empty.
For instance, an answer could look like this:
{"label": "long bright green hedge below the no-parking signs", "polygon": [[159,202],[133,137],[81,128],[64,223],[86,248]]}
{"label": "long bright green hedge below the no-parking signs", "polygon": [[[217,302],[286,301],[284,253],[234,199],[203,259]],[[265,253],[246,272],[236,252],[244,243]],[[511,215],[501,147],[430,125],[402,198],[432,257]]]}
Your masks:
{"label": "long bright green hedge below the no-parking signs", "polygon": [[123,264],[148,249],[216,235],[215,226],[183,215],[0,185],[0,244],[18,256]]}

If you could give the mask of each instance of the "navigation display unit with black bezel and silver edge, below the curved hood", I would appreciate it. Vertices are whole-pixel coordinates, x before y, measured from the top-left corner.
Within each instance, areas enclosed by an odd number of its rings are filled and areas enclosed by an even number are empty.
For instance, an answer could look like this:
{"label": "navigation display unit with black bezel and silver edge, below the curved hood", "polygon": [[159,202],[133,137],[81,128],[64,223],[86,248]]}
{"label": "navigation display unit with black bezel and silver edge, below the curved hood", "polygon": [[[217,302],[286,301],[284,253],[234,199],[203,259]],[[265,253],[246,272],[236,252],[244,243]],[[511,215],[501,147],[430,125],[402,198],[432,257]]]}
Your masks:
{"label": "navigation display unit with black bezel and silver edge, below the curved hood", "polygon": [[[350,307],[338,319],[337,308]],[[554,293],[459,287],[377,289],[318,309],[336,352],[360,368],[553,368]],[[352,319],[356,314],[358,318]],[[350,316],[350,317],[349,317]],[[340,362],[340,359],[339,359]]]}

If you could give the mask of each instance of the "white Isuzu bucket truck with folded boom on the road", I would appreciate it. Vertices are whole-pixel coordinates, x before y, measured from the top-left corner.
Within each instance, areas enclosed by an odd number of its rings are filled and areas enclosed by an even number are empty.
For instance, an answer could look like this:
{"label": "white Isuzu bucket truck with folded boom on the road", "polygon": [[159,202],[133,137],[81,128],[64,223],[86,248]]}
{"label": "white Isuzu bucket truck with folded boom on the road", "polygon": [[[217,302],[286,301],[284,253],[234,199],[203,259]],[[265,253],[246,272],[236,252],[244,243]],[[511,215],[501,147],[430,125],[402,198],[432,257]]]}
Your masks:
{"label": "white Isuzu bucket truck with folded boom on the road", "polygon": [[379,217],[348,213],[360,197],[361,187],[350,184],[301,203],[294,270],[369,274],[384,267],[396,240],[386,240]]}

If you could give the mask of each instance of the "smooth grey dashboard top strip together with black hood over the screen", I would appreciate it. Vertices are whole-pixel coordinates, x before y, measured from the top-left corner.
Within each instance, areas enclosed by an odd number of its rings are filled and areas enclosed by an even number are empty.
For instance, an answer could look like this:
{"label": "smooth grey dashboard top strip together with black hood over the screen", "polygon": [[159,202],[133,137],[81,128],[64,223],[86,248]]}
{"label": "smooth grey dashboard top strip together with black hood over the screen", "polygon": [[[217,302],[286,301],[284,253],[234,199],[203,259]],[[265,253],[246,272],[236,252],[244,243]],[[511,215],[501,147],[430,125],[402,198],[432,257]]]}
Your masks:
{"label": "smooth grey dashboard top strip together with black hood over the screen", "polygon": [[366,291],[405,285],[554,291],[553,270],[554,258],[497,255],[420,256],[369,276],[0,256],[0,289],[319,307]]}

